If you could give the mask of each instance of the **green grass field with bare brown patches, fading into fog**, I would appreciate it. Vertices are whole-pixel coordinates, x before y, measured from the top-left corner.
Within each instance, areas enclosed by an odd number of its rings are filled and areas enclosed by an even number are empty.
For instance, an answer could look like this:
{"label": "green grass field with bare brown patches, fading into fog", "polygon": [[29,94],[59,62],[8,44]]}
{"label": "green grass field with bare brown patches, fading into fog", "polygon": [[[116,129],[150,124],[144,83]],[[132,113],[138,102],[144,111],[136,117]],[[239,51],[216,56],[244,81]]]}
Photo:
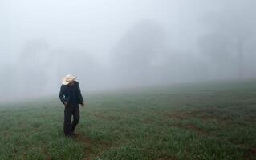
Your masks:
{"label": "green grass field with bare brown patches, fading into fog", "polygon": [[77,138],[63,105],[0,107],[0,159],[256,159],[256,82],[83,93]]}

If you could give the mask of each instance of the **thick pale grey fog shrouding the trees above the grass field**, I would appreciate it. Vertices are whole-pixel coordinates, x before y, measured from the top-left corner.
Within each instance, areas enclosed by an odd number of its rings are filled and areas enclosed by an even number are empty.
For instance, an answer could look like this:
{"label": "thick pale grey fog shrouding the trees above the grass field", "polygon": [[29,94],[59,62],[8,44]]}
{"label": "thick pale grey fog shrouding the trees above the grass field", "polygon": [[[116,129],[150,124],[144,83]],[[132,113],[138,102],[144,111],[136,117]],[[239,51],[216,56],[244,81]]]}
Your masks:
{"label": "thick pale grey fog shrouding the trees above the grass field", "polygon": [[1,101],[256,78],[254,0],[1,0]]}

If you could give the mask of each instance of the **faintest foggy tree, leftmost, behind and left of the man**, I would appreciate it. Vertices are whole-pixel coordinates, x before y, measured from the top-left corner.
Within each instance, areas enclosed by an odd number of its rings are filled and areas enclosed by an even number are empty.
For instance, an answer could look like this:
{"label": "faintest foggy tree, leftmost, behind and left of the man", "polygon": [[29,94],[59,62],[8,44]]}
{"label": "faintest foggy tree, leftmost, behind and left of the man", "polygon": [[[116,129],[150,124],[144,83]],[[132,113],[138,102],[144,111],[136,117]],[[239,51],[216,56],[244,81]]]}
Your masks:
{"label": "faintest foggy tree, leftmost, behind and left of the man", "polygon": [[51,66],[50,46],[43,38],[27,41],[14,66],[16,93],[30,96],[44,94],[47,90],[47,69]]}

